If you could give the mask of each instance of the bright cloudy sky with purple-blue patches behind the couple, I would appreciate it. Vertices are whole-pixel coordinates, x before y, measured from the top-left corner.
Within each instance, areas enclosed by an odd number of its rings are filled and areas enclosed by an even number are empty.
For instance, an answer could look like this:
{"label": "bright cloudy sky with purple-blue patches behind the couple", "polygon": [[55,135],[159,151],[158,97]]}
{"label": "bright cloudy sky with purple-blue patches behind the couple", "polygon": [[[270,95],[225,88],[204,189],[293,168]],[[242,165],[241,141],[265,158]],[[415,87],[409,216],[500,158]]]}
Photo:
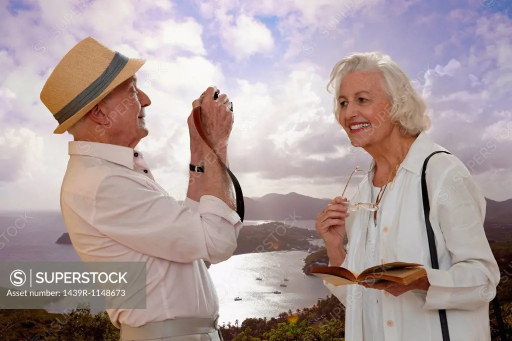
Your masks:
{"label": "bright cloudy sky with purple-blue patches behind the couple", "polygon": [[[354,52],[391,56],[423,96],[427,133],[493,200],[512,197],[510,0],[3,0],[0,210],[58,210],[68,141],[39,99],[59,60],[92,36],[133,58],[150,96],[137,149],[183,200],[191,102],[215,85],[233,102],[228,149],[244,196],[340,195],[370,156],[350,145],[327,89]],[[352,183],[352,182],[351,182]],[[349,193],[354,190],[350,186]]]}

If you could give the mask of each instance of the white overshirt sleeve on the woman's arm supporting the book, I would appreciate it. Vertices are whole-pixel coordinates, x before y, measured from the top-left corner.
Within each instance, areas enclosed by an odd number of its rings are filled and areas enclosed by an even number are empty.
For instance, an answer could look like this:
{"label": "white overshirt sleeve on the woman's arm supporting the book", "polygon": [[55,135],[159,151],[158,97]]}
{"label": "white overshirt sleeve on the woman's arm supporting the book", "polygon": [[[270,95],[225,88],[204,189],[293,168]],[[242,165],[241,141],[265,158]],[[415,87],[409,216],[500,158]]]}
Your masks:
{"label": "white overshirt sleeve on the woman's arm supporting the book", "polygon": [[[436,164],[431,168],[434,160]],[[415,294],[424,309],[477,309],[493,299],[500,281],[498,264],[483,228],[485,198],[455,157],[436,155],[430,162],[432,172],[426,179],[431,184],[431,219],[437,216],[453,265],[449,269],[426,269],[430,288],[426,294]]]}

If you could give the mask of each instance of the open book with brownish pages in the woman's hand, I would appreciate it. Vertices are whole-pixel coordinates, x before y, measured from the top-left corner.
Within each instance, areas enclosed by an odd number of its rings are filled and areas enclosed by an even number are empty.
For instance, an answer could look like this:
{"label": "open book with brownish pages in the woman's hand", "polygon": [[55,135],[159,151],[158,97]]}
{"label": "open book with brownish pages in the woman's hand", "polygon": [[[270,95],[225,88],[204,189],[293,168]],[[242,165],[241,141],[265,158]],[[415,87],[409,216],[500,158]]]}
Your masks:
{"label": "open book with brownish pages in the woman's hand", "polygon": [[387,280],[408,285],[426,275],[426,270],[421,264],[393,262],[372,266],[359,274],[337,266],[312,268],[311,274],[322,278],[336,287],[338,285],[355,284],[368,280]]}

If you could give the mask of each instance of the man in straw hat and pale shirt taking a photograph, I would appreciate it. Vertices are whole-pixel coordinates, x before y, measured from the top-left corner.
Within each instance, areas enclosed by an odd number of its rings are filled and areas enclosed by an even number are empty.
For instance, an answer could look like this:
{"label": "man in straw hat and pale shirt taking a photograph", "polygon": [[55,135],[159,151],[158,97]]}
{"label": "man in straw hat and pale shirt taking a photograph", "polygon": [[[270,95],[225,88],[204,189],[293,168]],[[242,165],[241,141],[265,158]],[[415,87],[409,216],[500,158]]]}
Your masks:
{"label": "man in straw hat and pale shirt taking a photograph", "polygon": [[[230,180],[227,148],[190,177],[184,205],[155,181],[142,153],[150,98],[137,87],[144,59],[132,59],[92,37],[58,63],[41,92],[68,131],[69,163],[62,181],[62,216],[85,262],[145,262],[146,309],[108,309],[121,340],[222,340],[219,303],[203,260],[219,263],[237,247],[242,221]],[[204,134],[227,145],[233,117],[225,94],[208,88],[193,107],[202,110]],[[188,118],[190,172],[212,150]],[[217,149],[217,148],[216,148]],[[201,170],[199,168],[199,170]]]}

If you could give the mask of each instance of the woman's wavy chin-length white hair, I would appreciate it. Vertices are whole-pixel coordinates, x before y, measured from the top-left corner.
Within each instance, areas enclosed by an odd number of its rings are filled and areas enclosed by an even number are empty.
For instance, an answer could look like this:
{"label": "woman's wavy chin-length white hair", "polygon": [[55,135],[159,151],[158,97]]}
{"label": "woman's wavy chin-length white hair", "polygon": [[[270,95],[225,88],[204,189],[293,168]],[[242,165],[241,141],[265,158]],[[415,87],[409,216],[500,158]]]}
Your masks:
{"label": "woman's wavy chin-length white hair", "polygon": [[390,56],[379,52],[353,53],[339,60],[332,69],[327,91],[334,93],[334,116],[338,122],[339,87],[343,77],[355,70],[381,73],[384,79],[382,87],[391,102],[391,122],[400,126],[402,134],[417,136],[430,128],[425,101],[411,86],[411,80],[407,74]]}

